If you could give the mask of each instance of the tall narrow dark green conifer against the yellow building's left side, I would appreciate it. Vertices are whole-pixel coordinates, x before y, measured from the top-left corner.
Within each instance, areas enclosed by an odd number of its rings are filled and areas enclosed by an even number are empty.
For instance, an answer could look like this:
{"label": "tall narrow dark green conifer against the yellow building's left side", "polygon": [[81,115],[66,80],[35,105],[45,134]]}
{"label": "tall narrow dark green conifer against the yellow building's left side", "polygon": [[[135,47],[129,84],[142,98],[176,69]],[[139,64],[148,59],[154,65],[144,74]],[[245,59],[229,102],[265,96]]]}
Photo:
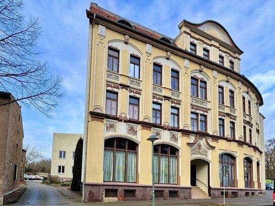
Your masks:
{"label": "tall narrow dark green conifer against the yellow building's left side", "polygon": [[83,139],[80,138],[77,141],[73,162],[73,171],[72,171],[72,191],[81,190],[81,170],[82,170],[82,153],[83,153]]}

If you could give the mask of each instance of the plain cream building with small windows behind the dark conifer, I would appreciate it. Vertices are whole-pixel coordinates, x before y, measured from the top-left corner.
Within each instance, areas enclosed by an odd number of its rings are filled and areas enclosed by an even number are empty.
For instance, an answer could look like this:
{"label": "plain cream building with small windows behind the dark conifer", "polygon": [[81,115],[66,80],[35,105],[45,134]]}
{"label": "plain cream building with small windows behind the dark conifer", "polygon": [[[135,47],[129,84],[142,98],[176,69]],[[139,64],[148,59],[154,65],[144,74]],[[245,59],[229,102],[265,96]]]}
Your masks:
{"label": "plain cream building with small windows behind the dark conifer", "polygon": [[63,181],[72,179],[73,153],[80,138],[82,134],[53,134],[51,176],[58,176]]}

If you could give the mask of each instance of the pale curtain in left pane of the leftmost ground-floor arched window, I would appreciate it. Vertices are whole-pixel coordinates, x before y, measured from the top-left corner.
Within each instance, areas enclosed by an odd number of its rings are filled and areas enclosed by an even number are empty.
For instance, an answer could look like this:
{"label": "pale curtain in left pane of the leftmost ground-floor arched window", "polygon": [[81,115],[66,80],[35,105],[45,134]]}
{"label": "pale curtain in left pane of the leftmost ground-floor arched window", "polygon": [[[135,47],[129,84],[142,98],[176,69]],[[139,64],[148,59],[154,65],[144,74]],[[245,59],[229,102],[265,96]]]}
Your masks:
{"label": "pale curtain in left pane of the leftmost ground-floor arched window", "polygon": [[112,181],[113,177],[113,150],[104,150],[103,181]]}

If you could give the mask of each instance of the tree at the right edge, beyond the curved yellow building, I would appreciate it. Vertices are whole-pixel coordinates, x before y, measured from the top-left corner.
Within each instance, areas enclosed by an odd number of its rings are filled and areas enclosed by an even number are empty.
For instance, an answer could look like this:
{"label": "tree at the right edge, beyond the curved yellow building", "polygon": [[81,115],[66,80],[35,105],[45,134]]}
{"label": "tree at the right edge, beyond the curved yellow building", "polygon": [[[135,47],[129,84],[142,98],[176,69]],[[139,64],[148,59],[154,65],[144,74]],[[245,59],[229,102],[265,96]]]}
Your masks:
{"label": "tree at the right edge, beyond the curved yellow building", "polygon": [[265,177],[273,179],[275,177],[275,137],[268,139],[264,144],[265,148]]}

